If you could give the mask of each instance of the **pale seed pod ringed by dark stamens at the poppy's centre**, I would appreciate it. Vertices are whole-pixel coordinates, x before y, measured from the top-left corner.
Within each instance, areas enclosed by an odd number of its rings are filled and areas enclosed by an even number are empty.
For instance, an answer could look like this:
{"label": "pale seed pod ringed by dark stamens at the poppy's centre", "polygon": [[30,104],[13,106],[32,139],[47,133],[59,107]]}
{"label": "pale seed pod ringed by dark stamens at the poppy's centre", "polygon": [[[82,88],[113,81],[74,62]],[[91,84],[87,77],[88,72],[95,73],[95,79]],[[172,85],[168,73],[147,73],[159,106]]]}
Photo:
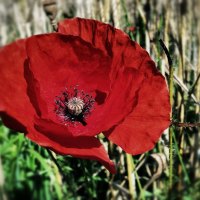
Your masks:
{"label": "pale seed pod ringed by dark stamens at the poppy's centre", "polygon": [[55,113],[65,124],[81,123],[87,125],[85,119],[91,113],[94,98],[83,90],[65,88],[55,99]]}

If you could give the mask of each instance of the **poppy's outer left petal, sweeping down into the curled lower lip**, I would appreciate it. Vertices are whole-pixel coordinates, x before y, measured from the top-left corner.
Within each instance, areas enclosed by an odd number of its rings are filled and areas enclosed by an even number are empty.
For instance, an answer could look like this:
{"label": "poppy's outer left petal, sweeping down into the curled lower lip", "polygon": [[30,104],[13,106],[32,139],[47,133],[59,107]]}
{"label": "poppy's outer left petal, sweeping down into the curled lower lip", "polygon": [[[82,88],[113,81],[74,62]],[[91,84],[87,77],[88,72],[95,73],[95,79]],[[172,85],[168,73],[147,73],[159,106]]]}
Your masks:
{"label": "poppy's outer left petal, sweeping down into the curled lower lip", "polygon": [[[111,173],[115,173],[114,164],[98,139],[54,137],[58,129],[55,130],[53,124],[48,124],[50,129],[45,133],[34,129],[36,113],[27,95],[24,63],[26,64],[25,40],[16,41],[0,49],[0,116],[5,125],[20,132],[28,132],[26,136],[33,142],[49,147],[59,154],[98,160]],[[30,76],[26,71],[26,78],[31,78]],[[31,100],[34,102],[36,98]],[[66,133],[66,129],[64,131]]]}

